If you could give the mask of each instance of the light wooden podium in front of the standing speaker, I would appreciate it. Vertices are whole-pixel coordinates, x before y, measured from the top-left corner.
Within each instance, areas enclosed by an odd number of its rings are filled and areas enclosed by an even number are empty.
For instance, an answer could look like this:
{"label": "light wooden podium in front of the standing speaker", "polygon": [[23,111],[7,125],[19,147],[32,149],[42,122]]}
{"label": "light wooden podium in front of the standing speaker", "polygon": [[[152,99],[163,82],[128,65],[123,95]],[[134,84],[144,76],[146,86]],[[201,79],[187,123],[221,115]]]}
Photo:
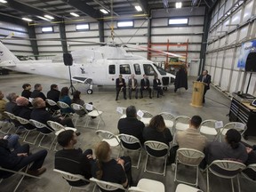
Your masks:
{"label": "light wooden podium in front of the standing speaker", "polygon": [[192,101],[191,101],[190,105],[193,107],[196,107],[196,108],[202,108],[203,107],[203,96],[204,96],[204,83],[194,82]]}

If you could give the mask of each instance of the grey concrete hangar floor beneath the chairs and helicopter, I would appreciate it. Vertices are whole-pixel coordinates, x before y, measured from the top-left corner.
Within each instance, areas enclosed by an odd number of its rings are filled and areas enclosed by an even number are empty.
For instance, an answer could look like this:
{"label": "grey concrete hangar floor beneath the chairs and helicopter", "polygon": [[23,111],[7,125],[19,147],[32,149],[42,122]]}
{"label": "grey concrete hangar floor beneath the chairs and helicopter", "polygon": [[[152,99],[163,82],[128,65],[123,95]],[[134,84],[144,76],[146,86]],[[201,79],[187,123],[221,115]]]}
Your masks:
{"label": "grey concrete hangar floor beneath the chairs and helicopter", "polygon": [[[136,106],[137,109],[143,109],[151,112],[153,115],[159,114],[160,112],[170,112],[174,116],[194,116],[199,115],[202,116],[203,120],[205,119],[216,119],[223,121],[224,124],[228,123],[228,110],[230,105],[230,100],[223,96],[222,93],[214,90],[212,88],[209,92],[207,92],[206,103],[204,108],[193,108],[189,105],[191,100],[191,87],[192,87],[193,79],[190,78],[188,82],[188,91],[181,90],[176,93],[173,92],[174,87],[168,89],[167,92],[164,92],[165,96],[163,98],[157,99],[156,97],[152,100],[148,99],[148,97],[144,97],[139,100],[123,100],[123,97],[119,96],[118,101],[115,100],[116,91],[115,87],[93,87],[93,94],[86,94],[87,87],[84,84],[74,84],[76,90],[82,92],[82,99],[87,101],[92,101],[93,105],[96,108],[99,108],[103,111],[103,119],[105,121],[105,126],[100,124],[100,129],[104,129],[110,132],[118,133],[116,124],[120,117],[119,114],[116,113],[116,107],[128,107],[129,105]],[[16,92],[20,94],[22,92],[21,85],[24,83],[32,84],[32,86],[36,83],[43,85],[43,92],[46,94],[50,89],[50,84],[58,84],[59,88],[63,86],[69,86],[67,80],[55,79],[51,77],[45,76],[36,76],[36,75],[28,75],[28,74],[19,74],[13,73],[9,76],[0,76],[1,88],[0,90],[7,95],[9,92]],[[134,95],[133,95],[134,98]],[[78,122],[83,125],[83,121]],[[81,136],[79,137],[79,141],[77,143],[77,147],[82,149],[86,148],[94,148],[95,144],[99,142],[98,137],[95,135],[95,130],[83,128],[82,126],[76,126],[77,130],[81,132]],[[246,142],[250,144],[256,144],[255,137],[249,137],[249,140]],[[40,148],[31,147],[32,152],[39,150]],[[117,149],[113,150],[113,156],[116,156]],[[132,159],[136,161],[136,154],[131,154],[134,156]],[[173,182],[174,172],[172,172],[172,166],[167,166],[166,176],[159,176],[156,174],[143,172],[144,164],[145,164],[146,154],[143,153],[140,160],[140,169],[137,170],[132,168],[132,176],[135,182],[138,182],[141,178],[148,178],[152,180],[159,180],[164,183],[166,192],[174,192],[177,186],[177,183]],[[41,191],[68,191],[68,183],[61,179],[58,173],[52,171],[54,166],[54,152],[49,151],[48,156],[45,159],[44,166],[47,168],[47,172],[42,175],[41,180],[34,180],[25,178],[17,191],[33,191],[33,192],[41,192]],[[156,171],[161,171],[163,169],[162,161],[149,161],[148,169],[154,169]],[[185,180],[193,180],[194,172],[189,168],[180,167],[179,175],[181,178]],[[0,184],[0,191],[12,191],[13,186],[18,183],[19,176],[12,176],[11,178],[4,180]],[[222,191],[231,191],[231,185],[229,180],[219,179],[215,176],[210,177],[210,187],[212,192],[222,192]],[[235,182],[236,183],[236,182]],[[200,172],[199,177],[199,187],[206,191],[206,175]],[[236,185],[235,185],[236,187]],[[241,189],[243,192],[252,192],[255,190],[255,183],[248,180],[241,179]],[[73,189],[74,191],[79,191],[78,189]],[[90,188],[87,191],[92,191]]]}

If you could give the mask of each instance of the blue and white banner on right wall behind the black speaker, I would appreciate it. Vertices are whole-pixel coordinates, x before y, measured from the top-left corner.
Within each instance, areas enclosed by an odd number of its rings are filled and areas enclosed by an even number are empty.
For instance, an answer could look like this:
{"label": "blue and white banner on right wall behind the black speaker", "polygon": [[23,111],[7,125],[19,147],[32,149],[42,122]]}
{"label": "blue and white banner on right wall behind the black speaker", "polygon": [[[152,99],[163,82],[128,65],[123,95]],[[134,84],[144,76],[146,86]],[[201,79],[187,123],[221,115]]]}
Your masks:
{"label": "blue and white banner on right wall behind the black speaker", "polygon": [[247,56],[250,52],[256,52],[256,40],[252,40],[250,42],[245,42],[242,44],[237,68],[245,68]]}

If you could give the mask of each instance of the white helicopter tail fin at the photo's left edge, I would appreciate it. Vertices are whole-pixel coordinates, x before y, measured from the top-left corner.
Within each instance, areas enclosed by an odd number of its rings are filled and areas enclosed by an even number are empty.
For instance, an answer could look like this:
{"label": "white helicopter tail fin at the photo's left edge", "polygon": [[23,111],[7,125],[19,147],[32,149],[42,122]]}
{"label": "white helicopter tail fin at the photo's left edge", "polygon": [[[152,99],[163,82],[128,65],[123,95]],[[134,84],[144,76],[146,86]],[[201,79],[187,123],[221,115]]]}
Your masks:
{"label": "white helicopter tail fin at the photo's left edge", "polygon": [[12,67],[19,61],[20,60],[0,42],[0,67]]}

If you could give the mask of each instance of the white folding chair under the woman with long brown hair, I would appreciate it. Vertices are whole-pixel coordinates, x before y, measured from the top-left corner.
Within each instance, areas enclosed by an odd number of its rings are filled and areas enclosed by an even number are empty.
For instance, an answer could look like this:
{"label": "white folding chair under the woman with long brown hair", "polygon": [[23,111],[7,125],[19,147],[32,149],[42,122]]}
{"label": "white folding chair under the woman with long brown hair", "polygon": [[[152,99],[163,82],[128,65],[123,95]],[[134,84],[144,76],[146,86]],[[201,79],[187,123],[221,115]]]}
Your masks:
{"label": "white folding chair under the woman with long brown hair", "polygon": [[[146,157],[146,163],[145,163],[145,168],[144,168],[144,172],[151,172],[151,173],[155,173],[155,174],[160,174],[160,175],[164,175],[165,176],[165,171],[166,171],[166,163],[167,163],[167,156],[169,154],[169,147],[163,143],[163,142],[158,142],[156,140],[148,140],[144,143],[146,152],[147,152],[147,157]],[[164,155],[163,156],[154,156],[154,154],[151,153],[150,150],[148,150],[148,148],[150,148],[151,150],[153,150],[154,152],[157,151],[163,151]],[[162,158],[164,157],[164,172],[153,172],[153,171],[148,171],[147,170],[147,164],[148,164],[148,156],[152,156],[155,158]]]}

